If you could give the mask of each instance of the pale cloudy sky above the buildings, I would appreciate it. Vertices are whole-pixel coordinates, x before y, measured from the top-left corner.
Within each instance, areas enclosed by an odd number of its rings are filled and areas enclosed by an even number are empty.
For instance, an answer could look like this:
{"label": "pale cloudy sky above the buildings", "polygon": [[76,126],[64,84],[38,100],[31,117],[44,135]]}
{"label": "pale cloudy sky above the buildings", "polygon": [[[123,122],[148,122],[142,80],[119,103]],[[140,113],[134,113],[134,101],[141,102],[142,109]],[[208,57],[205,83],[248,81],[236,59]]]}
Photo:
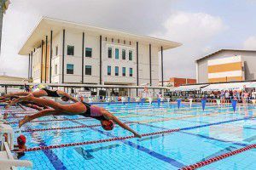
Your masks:
{"label": "pale cloudy sky above the buildings", "polygon": [[10,0],[3,18],[0,74],[27,77],[18,54],[42,16],[160,37],[164,78],[195,78],[195,59],[221,48],[256,50],[256,0]]}

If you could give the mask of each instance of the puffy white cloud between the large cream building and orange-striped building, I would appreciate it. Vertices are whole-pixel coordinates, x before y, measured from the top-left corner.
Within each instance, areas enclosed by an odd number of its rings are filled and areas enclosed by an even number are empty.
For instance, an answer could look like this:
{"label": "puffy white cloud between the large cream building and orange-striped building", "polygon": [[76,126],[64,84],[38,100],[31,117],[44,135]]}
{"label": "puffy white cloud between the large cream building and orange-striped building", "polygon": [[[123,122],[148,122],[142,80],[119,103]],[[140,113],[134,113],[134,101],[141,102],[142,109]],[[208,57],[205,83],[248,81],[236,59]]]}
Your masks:
{"label": "puffy white cloud between the large cream building and orange-striped building", "polygon": [[182,42],[183,46],[166,51],[164,54],[165,77],[195,77],[195,59],[212,50],[211,42],[227,26],[218,16],[205,13],[172,14],[163,24],[165,33],[154,36]]}

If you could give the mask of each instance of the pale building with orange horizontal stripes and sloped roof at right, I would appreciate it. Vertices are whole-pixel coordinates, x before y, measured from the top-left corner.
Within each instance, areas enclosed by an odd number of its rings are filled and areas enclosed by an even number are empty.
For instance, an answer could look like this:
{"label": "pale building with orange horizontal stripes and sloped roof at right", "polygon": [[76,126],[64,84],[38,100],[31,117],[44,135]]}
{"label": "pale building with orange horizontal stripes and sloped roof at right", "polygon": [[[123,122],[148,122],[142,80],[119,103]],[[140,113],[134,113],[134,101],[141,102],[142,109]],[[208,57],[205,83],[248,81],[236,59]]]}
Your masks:
{"label": "pale building with orange horizontal stripes and sloped roof at right", "polygon": [[198,83],[256,79],[256,51],[253,50],[221,49],[195,63]]}

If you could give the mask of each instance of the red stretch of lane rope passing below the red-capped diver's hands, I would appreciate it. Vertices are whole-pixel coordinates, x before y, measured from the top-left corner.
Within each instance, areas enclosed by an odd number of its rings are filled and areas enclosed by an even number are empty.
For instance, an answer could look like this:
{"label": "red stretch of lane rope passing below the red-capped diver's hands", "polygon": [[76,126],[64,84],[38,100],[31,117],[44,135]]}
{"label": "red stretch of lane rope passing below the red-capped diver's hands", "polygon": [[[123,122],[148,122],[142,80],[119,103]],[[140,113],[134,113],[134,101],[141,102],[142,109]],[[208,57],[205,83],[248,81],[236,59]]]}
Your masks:
{"label": "red stretch of lane rope passing below the red-capped diver's hands", "polygon": [[[163,133],[173,133],[177,132],[180,129],[170,129],[166,131],[160,131],[160,132],[155,132],[155,133],[143,133],[142,136],[152,136],[156,134],[163,134]],[[50,146],[38,146],[34,148],[29,148],[26,151],[36,151],[36,150],[50,150],[50,149],[56,149],[56,148],[64,148],[68,146],[77,146],[77,145],[85,145],[85,144],[99,144],[99,143],[104,143],[104,142],[110,142],[110,141],[115,141],[115,140],[124,140],[124,139],[132,139],[136,138],[135,136],[125,136],[125,137],[117,137],[117,138],[112,138],[112,139],[100,139],[100,140],[91,140],[91,141],[85,141],[85,142],[79,142],[79,143],[71,143],[71,144],[56,144],[56,145],[50,145]]]}

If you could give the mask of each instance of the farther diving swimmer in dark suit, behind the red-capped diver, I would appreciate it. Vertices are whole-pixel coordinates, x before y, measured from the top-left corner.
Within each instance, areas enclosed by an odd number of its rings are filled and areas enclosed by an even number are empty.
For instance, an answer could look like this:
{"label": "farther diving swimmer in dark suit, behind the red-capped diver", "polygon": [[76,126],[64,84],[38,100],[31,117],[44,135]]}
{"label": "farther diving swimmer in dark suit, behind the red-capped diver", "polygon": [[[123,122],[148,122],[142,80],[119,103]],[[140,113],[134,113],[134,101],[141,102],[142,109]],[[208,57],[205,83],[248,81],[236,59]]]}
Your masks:
{"label": "farther diving swimmer in dark suit, behind the red-capped diver", "polygon": [[33,96],[36,98],[48,96],[48,97],[53,97],[53,98],[61,98],[63,101],[68,101],[68,100],[72,100],[73,102],[79,101],[78,99],[73,98],[71,95],[67,94],[66,92],[63,92],[61,90],[49,90],[47,88],[42,88],[33,93],[17,92],[17,93],[13,93],[13,94],[3,94],[3,97],[2,98],[0,97],[0,99],[9,98],[12,96],[26,96],[28,94],[33,94]]}

